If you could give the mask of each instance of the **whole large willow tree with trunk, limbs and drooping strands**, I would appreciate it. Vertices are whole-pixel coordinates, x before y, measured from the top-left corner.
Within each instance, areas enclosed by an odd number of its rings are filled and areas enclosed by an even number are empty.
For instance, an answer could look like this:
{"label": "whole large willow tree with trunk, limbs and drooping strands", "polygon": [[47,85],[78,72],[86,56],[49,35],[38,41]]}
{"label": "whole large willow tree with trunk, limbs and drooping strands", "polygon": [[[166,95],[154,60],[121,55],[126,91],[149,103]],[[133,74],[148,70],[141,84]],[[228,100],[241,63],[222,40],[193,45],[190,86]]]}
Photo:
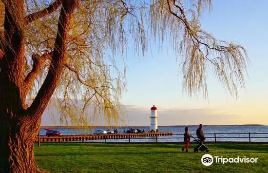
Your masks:
{"label": "whole large willow tree with trunk, limbs and drooping strands", "polygon": [[52,98],[63,122],[88,123],[89,107],[120,117],[125,73],[115,61],[129,41],[145,55],[148,39],[169,40],[190,95],[207,96],[208,68],[231,95],[244,87],[245,49],[200,27],[211,0],[1,0],[0,8],[1,173],[40,172],[34,141]]}

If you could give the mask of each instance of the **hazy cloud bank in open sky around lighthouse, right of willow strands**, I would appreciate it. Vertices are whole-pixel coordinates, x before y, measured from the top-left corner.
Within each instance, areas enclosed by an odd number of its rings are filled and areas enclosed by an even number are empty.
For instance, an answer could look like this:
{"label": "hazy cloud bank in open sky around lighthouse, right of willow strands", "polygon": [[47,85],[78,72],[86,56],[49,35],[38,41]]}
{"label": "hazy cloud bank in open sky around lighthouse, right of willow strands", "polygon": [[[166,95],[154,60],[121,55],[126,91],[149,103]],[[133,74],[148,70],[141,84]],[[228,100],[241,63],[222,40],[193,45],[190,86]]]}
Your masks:
{"label": "hazy cloud bank in open sky around lighthouse, right of willow strands", "polygon": [[[126,122],[130,126],[150,125],[150,110],[127,107]],[[227,114],[223,109],[165,109],[158,110],[158,125],[235,124],[241,116]]]}

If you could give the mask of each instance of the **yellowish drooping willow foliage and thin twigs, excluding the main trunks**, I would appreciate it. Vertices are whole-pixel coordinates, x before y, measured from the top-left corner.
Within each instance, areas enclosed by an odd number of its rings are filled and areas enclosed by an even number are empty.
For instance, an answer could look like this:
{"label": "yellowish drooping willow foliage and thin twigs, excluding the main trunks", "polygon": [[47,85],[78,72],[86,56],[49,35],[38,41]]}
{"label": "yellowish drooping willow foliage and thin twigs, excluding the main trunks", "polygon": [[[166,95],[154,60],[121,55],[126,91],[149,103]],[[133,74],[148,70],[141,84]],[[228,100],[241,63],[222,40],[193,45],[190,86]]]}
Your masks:
{"label": "yellowish drooping willow foliage and thin twigs, excluding the main trunks", "polygon": [[[12,1],[0,3],[0,63],[5,60],[4,50],[13,48],[6,38],[5,10],[16,20],[24,40],[22,73],[29,88],[21,94],[22,102],[27,103],[25,110],[30,109],[53,67],[63,1],[24,0],[22,13],[17,12],[18,6]],[[91,108],[93,117],[104,112],[108,121],[116,121],[124,114],[120,97],[126,86],[126,69],[117,68],[115,62],[118,57],[125,60],[130,41],[134,50],[145,56],[148,39],[153,38],[160,45],[165,39],[170,40],[182,64],[184,89],[190,96],[201,91],[208,96],[208,68],[232,96],[238,96],[238,85],[244,88],[246,50],[236,42],[218,40],[201,28],[200,16],[211,10],[211,0],[76,1],[65,40],[65,68],[53,91],[62,122],[67,123],[70,118],[74,123],[87,124],[86,110]],[[83,106],[77,107],[77,98],[82,99]]]}

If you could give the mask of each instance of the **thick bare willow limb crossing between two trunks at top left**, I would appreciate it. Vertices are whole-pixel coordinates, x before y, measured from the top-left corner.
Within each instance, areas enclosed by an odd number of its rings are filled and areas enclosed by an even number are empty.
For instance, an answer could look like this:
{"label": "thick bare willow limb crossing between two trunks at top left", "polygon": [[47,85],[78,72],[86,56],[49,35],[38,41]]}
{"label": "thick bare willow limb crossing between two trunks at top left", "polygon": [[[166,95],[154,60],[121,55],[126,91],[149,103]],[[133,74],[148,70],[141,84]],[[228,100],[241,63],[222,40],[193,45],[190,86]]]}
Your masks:
{"label": "thick bare willow limb crossing between two trunks at top left", "polygon": [[49,15],[50,13],[55,12],[57,8],[61,5],[61,3],[62,3],[62,0],[55,0],[47,8],[26,16],[25,17],[26,25],[35,21],[36,19],[40,19],[42,17]]}

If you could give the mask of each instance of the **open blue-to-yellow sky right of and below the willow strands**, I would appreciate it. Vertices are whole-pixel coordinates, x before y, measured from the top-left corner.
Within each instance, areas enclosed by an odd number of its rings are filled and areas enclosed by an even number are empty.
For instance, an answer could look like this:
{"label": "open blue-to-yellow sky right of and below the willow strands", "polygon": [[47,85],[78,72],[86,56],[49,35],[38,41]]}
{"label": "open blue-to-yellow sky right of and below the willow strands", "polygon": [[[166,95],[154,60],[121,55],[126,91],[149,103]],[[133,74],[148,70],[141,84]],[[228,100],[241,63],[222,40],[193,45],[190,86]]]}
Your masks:
{"label": "open blue-to-yellow sky right of and below the willow strands", "polygon": [[[126,125],[149,126],[153,105],[158,108],[158,125],[268,125],[267,6],[268,0],[213,0],[213,10],[201,18],[203,30],[218,39],[238,41],[248,51],[249,76],[245,78],[246,89],[238,90],[238,100],[212,74],[208,76],[208,100],[202,94],[190,98],[182,90],[182,73],[175,55],[165,44],[158,50],[151,42],[152,50],[144,58],[129,51],[127,91],[121,99],[127,109]],[[51,123],[45,113],[41,125]]]}

